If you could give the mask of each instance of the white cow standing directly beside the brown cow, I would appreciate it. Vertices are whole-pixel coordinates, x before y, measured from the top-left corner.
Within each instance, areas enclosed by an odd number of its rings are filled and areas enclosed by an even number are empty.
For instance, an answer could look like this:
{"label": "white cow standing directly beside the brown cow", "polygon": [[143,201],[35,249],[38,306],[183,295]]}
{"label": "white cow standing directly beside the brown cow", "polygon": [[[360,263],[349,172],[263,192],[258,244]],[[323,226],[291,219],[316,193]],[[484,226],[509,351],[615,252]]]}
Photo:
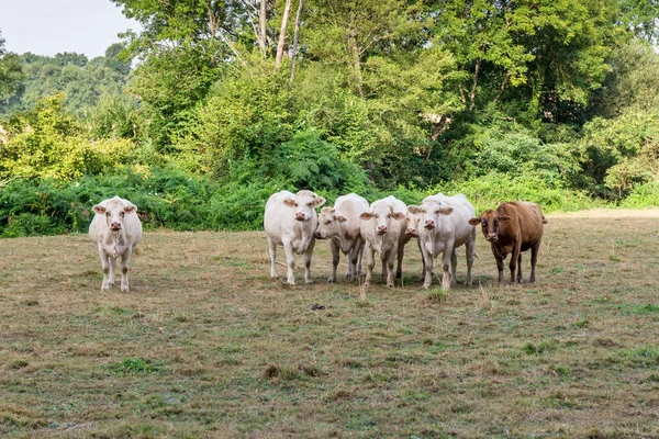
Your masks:
{"label": "white cow standing directly beside the brown cow", "polygon": [[439,254],[443,254],[442,289],[449,290],[450,285],[456,283],[458,264],[456,249],[462,245],[467,254],[467,284],[471,285],[476,228],[469,224],[469,219],[474,216],[476,211],[467,198],[461,193],[454,196],[439,193],[424,199],[421,206],[409,206],[407,212],[421,217],[417,232],[425,262],[423,288],[429,288],[433,282],[434,258]]}

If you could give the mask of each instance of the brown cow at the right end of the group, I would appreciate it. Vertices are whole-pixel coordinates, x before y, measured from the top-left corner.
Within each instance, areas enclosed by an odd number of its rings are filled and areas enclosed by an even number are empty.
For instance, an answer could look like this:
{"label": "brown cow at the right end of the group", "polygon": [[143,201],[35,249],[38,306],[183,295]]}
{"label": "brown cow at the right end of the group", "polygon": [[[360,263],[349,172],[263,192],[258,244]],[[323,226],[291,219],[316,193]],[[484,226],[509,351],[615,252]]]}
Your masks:
{"label": "brown cow at the right end of the group", "polygon": [[481,213],[480,217],[469,219],[469,224],[480,224],[485,239],[492,246],[492,254],[499,269],[499,283],[503,282],[503,261],[509,254],[511,257],[511,283],[522,283],[522,251],[530,248],[530,278],[535,282],[535,266],[543,239],[544,224],[547,219],[540,206],[524,201],[503,202],[495,211],[491,209]]}

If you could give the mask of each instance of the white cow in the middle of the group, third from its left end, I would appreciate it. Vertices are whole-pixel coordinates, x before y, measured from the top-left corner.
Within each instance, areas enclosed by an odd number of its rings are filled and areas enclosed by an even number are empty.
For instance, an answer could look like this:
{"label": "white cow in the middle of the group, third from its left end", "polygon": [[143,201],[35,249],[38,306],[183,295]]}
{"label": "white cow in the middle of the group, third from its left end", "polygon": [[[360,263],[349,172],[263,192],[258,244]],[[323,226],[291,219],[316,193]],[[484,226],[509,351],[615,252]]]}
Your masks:
{"label": "white cow in the middle of the group, third from its left end", "polygon": [[365,286],[370,285],[376,251],[382,260],[382,278],[387,275],[387,286],[393,288],[393,262],[396,256],[396,278],[402,275],[404,246],[411,238],[405,235],[405,203],[390,195],[373,201],[369,211],[359,215],[366,254]]}

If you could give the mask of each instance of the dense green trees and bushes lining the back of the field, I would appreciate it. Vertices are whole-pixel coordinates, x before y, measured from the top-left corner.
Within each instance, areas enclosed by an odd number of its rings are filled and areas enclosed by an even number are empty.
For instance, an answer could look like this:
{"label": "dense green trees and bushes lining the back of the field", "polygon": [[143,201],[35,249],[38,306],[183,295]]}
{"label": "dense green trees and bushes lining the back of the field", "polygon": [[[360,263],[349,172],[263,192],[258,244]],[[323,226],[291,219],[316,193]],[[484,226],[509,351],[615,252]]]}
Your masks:
{"label": "dense green trees and bushes lining the back of the field", "polygon": [[281,188],[657,199],[654,0],[112,1],[143,32],[105,57],[0,52],[7,236],[115,193],[179,229],[258,227]]}

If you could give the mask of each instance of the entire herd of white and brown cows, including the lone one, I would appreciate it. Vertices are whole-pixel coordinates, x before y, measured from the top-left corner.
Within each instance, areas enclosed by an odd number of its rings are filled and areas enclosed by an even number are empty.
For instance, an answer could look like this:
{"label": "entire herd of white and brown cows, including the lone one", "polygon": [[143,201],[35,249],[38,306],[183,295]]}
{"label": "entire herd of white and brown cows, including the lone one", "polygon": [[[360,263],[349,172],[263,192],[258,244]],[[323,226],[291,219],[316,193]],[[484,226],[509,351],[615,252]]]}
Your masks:
{"label": "entire herd of white and brown cows, including the lone one", "polygon": [[[393,279],[402,277],[405,245],[415,239],[421,250],[423,269],[421,280],[427,289],[436,275],[435,259],[442,255],[442,288],[456,284],[459,247],[465,246],[467,260],[466,283],[471,285],[471,267],[476,255],[476,226],[481,225],[496,260],[499,282],[503,281],[503,261],[511,256],[511,283],[522,283],[522,252],[530,249],[530,278],[535,282],[535,267],[547,219],[540,206],[528,202],[503,202],[496,210],[487,210],[480,216],[463,194],[446,196],[442,193],[425,198],[420,205],[405,205],[390,195],[368,201],[355,193],[336,199],[334,207],[316,207],[325,199],[312,191],[277,192],[268,199],[264,227],[268,237],[270,277],[277,278],[277,246],[286,254],[287,281],[295,284],[295,254],[303,255],[304,281],[312,282],[311,257],[316,239],[330,241],[332,273],[327,282],[336,282],[339,251],[347,256],[346,280],[360,279],[362,257],[366,257],[364,285],[372,281],[376,255],[382,264],[382,280],[393,288]],[[142,224],[137,206],[119,196],[93,206],[94,217],[89,237],[97,245],[103,281],[101,291],[115,282],[116,261],[121,257],[121,291],[129,291],[129,262],[133,249],[142,239]],[[395,274],[394,274],[395,266]]]}

